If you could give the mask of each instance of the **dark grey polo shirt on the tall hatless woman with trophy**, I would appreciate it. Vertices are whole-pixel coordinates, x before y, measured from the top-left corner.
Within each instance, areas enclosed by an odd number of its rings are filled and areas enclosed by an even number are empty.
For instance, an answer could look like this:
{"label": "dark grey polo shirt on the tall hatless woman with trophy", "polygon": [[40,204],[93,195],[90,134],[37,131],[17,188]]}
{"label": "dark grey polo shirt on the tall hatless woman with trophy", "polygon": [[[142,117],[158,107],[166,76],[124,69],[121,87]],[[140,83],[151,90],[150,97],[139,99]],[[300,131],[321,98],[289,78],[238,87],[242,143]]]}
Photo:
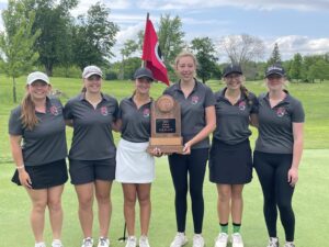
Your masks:
{"label": "dark grey polo shirt on the tall hatless woman with trophy", "polygon": [[[180,103],[183,142],[189,142],[206,125],[205,109],[215,104],[215,98],[212,89],[195,80],[194,89],[188,98],[184,97],[180,82],[167,88],[163,94],[173,97],[173,99]],[[208,137],[193,145],[191,148],[207,147],[209,147]]]}

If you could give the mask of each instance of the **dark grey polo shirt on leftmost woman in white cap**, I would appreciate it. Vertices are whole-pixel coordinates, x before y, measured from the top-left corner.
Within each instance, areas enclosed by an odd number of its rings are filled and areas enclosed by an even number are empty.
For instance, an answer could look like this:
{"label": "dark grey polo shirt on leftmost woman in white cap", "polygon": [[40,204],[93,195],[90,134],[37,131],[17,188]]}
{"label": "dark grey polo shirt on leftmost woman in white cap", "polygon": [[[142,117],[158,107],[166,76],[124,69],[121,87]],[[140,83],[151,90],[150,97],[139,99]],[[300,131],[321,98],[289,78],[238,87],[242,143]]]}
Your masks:
{"label": "dark grey polo shirt on leftmost woman in white cap", "polygon": [[21,105],[11,111],[9,134],[22,136],[25,166],[39,166],[67,156],[63,105],[57,99],[46,99],[46,112],[35,112],[38,124],[31,131],[23,126]]}

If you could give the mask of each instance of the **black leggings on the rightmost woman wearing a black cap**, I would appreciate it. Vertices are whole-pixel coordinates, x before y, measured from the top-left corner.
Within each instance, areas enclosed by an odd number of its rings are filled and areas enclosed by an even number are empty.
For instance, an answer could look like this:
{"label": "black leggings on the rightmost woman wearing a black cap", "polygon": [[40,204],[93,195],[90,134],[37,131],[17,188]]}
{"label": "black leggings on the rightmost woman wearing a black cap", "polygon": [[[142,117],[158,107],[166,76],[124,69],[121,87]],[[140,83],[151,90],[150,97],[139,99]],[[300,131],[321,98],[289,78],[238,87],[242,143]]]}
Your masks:
{"label": "black leggings on the rightmost woman wearing a black cap", "polygon": [[264,217],[270,237],[276,237],[277,210],[287,242],[294,240],[295,215],[292,207],[294,187],[287,182],[293,155],[254,151],[253,165],[264,195]]}

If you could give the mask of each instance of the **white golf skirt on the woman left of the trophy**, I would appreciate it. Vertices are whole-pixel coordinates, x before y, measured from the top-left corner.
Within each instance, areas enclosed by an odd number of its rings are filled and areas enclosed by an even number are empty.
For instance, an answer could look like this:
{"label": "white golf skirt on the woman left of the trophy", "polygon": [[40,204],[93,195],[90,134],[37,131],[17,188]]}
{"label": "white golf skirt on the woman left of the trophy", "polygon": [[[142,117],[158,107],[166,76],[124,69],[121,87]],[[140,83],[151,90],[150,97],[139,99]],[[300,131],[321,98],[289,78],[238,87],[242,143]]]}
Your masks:
{"label": "white golf skirt on the woman left of the trophy", "polygon": [[116,149],[115,180],[123,183],[150,183],[155,180],[155,158],[147,153],[148,142],[121,139]]}

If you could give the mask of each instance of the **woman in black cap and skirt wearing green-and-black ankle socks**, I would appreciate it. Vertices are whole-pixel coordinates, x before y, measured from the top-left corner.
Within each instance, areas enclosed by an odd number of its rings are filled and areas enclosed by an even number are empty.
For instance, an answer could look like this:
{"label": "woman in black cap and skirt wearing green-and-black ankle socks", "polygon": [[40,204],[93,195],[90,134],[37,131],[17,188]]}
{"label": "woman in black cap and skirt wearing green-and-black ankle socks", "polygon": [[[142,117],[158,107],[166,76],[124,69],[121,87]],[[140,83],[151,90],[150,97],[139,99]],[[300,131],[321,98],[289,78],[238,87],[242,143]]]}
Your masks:
{"label": "woman in black cap and skirt wearing green-and-black ankle socks", "polygon": [[256,122],[257,98],[242,85],[239,65],[228,65],[223,76],[226,87],[215,93],[217,127],[209,154],[209,179],[217,186],[220,225],[215,247],[227,246],[229,214],[234,226],[232,247],[243,247],[240,235],[242,190],[252,178],[249,123]]}

